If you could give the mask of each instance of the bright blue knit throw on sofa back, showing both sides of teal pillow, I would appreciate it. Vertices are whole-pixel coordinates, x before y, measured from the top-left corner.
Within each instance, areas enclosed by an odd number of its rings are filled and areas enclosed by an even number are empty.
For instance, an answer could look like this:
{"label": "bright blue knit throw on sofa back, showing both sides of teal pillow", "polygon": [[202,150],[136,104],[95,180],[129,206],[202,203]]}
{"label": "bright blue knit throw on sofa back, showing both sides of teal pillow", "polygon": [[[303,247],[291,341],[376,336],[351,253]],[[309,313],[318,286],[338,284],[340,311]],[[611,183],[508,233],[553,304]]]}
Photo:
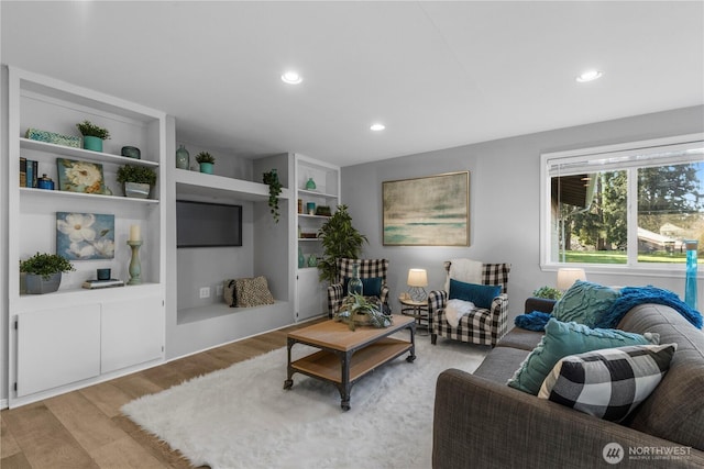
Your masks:
{"label": "bright blue knit throw on sofa back, showing both sides of teal pillow", "polygon": [[[620,322],[631,308],[644,303],[664,304],[680,313],[694,327],[702,328],[702,314],[688,306],[680,298],[669,291],[656,287],[626,287],[620,290],[612,306],[602,314],[595,327],[613,328]],[[528,331],[544,331],[546,324],[552,317],[551,314],[540,311],[521,314],[514,321],[518,327]]]}

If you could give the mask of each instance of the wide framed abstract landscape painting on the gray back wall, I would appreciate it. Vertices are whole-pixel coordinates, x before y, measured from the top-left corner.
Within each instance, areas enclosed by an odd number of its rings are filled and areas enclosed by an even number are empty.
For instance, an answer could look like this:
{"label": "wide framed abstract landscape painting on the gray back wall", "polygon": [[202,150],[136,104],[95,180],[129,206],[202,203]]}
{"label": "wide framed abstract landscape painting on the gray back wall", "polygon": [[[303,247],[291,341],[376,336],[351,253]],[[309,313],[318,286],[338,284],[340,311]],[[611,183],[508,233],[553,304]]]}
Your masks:
{"label": "wide framed abstract landscape painting on the gray back wall", "polygon": [[385,246],[469,246],[470,171],[384,181]]}

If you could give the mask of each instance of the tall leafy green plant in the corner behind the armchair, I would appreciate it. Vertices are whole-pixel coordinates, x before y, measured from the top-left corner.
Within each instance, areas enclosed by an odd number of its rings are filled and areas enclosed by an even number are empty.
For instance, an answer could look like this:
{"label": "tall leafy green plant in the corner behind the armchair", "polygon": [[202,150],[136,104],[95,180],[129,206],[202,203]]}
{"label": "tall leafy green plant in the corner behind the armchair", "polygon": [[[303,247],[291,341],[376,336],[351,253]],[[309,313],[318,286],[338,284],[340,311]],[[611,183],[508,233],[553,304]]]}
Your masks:
{"label": "tall leafy green plant in the corner behind the armchair", "polygon": [[320,227],[318,238],[322,245],[322,258],[318,259],[320,280],[334,283],[338,272],[338,259],[359,259],[362,245],[369,243],[365,235],[352,226],[352,216],[346,205],[338,205],[338,210]]}

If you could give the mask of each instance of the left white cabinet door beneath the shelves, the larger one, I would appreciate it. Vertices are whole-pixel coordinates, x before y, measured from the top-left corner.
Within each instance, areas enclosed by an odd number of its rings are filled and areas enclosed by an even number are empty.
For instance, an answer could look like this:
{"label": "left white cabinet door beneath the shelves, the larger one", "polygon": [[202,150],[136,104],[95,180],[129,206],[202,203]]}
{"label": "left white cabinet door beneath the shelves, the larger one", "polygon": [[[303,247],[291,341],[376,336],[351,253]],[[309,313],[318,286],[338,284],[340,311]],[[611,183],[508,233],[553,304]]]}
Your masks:
{"label": "left white cabinet door beneath the shelves, the larger one", "polygon": [[18,315],[16,395],[100,375],[100,304]]}

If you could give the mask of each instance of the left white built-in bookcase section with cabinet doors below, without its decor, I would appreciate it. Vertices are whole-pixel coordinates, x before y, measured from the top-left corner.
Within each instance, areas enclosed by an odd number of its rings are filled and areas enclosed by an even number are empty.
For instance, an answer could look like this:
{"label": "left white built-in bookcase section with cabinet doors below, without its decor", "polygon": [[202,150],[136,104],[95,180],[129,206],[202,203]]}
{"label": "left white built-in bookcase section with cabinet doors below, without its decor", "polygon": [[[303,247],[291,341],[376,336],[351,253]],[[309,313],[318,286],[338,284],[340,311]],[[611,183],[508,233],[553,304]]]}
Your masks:
{"label": "left white built-in bookcase section with cabinet doors below, without its decor", "polygon": [[[9,68],[9,161],[7,188],[9,311],[9,405],[44,399],[164,360],[165,243],[162,165],[166,115],[139,104],[59,80]],[[110,131],[105,152],[24,138],[29,127],[77,135],[76,123],[89,120]],[[120,155],[136,146],[142,159]],[[20,158],[37,161],[56,186],[57,158],[102,166],[111,194],[20,187]],[[154,168],[158,175],[150,199],[128,199],[116,182],[125,164]],[[108,192],[108,191],[106,191]],[[108,193],[110,193],[108,192]],[[35,253],[56,253],[56,213],[114,215],[114,258],[74,260],[57,292],[25,294],[18,265]],[[97,268],[129,280],[130,226],[141,226],[143,283],[86,290]],[[61,253],[58,253],[61,254]]]}

